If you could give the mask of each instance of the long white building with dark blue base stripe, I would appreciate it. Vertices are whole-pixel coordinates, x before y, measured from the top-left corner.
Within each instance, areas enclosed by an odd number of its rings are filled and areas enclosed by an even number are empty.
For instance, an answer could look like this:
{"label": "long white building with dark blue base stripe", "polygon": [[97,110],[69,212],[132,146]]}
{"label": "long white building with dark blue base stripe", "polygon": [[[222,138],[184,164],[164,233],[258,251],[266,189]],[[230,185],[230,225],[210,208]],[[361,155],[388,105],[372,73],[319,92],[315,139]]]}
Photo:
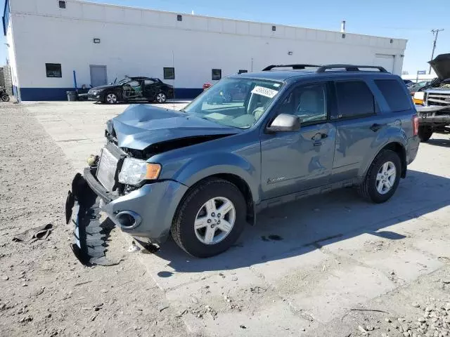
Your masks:
{"label": "long white building with dark blue base stripe", "polygon": [[74,71],[78,87],[159,77],[177,98],[219,75],[271,64],[382,65],[401,74],[406,48],[404,39],[79,0],[6,0],[4,33],[20,100],[65,99]]}

